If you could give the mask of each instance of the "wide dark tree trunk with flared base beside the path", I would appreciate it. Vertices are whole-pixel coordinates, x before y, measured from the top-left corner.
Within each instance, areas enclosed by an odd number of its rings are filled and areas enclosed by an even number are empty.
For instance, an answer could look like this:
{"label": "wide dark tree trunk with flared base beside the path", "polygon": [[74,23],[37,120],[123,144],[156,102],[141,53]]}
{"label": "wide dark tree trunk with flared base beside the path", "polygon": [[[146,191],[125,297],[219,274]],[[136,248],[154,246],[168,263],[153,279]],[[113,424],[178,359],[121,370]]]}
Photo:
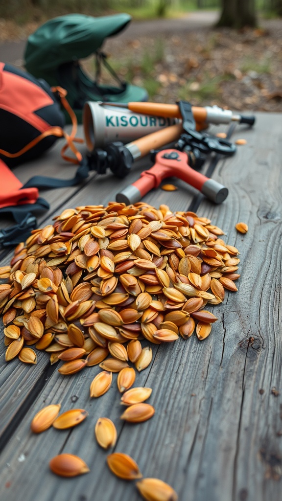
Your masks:
{"label": "wide dark tree trunk with flared base beside the path", "polygon": [[256,26],[255,0],[222,0],[217,26],[244,28]]}

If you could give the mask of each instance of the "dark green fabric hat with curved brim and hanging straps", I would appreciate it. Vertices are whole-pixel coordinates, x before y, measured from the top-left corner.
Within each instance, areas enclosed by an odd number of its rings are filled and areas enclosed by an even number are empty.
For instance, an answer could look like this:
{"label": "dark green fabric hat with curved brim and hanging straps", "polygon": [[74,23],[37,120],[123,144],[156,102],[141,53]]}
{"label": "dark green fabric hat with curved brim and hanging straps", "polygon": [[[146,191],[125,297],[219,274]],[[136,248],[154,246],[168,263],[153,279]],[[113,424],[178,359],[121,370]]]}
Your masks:
{"label": "dark green fabric hat with curved brim and hanging straps", "polygon": [[[67,91],[67,100],[78,121],[86,101],[126,103],[147,101],[146,89],[122,82],[101,52],[104,40],[121,32],[131,21],[128,14],[92,17],[69,14],[47,21],[28,38],[25,67],[36,78]],[[96,77],[91,80],[79,64],[80,59],[96,56]],[[117,87],[98,83],[101,64],[110,71]]]}

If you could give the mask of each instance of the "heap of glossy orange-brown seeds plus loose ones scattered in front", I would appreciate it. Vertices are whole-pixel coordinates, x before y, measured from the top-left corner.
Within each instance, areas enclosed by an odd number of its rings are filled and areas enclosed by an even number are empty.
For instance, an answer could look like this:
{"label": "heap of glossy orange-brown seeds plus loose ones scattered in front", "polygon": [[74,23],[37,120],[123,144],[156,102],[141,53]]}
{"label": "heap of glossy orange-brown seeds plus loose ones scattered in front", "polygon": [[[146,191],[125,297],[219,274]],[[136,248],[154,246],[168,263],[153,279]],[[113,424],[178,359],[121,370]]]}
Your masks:
{"label": "heap of glossy orange-brown seeds plus loose ones scattered in front", "polygon": [[[151,418],[155,409],[145,400],[152,389],[131,388],[135,370],[152,360],[150,343],[187,340],[193,333],[207,338],[217,320],[207,305],[223,302],[226,290],[237,291],[239,252],[223,234],[209,219],[167,205],[110,202],[64,210],[54,224],[33,230],[15,249],[11,266],[0,268],[6,360],[35,364],[37,350],[44,350],[51,364],[61,362],[64,375],[99,365],[90,397],[104,394],[116,372],[126,405],[121,418]],[[149,345],[143,348],[142,340]],[[58,418],[58,405],[45,409],[34,418],[34,432],[55,419],[55,426],[68,427],[87,415],[72,409]],[[112,425],[108,418],[97,421],[96,439],[104,448],[115,443]],[[108,456],[110,469],[139,478],[133,459],[116,454]],[[80,458],[62,456],[50,464],[58,474],[64,475],[65,465],[72,474],[88,471]],[[140,480],[145,499],[153,499],[146,497],[150,482],[156,492],[171,492],[161,480]]]}

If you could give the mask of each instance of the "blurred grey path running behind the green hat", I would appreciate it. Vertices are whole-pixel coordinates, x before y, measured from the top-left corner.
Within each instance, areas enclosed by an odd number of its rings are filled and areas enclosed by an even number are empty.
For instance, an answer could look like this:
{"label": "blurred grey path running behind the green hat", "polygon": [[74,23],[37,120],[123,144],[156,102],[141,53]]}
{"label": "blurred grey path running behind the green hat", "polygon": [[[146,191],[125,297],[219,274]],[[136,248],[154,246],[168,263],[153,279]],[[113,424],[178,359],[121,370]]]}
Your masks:
{"label": "blurred grey path running behind the green hat", "polygon": [[[200,28],[211,28],[218,19],[218,12],[198,11],[189,13],[177,19],[158,19],[150,21],[132,21],[129,26],[119,35],[116,40],[137,39],[152,35],[167,34],[168,36],[180,35]],[[109,38],[111,42],[113,39]],[[0,42],[0,61],[16,66],[22,66],[26,40],[16,42]]]}

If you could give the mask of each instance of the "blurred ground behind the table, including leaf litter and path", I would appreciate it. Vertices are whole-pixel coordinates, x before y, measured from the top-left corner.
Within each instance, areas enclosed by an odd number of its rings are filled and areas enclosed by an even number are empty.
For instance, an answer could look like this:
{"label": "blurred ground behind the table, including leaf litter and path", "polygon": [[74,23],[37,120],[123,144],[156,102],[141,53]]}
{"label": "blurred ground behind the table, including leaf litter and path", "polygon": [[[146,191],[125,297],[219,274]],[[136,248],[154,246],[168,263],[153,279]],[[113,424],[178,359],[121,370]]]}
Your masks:
{"label": "blurred ground behind the table, including leaf litter and path", "polygon": [[[233,31],[214,28],[217,17],[204,12],[131,22],[103,49],[119,76],[148,85],[154,101],[186,99],[194,105],[282,112],[282,19],[260,19],[255,30]],[[5,55],[15,42],[23,53],[37,25],[19,28],[0,20],[0,28]],[[23,64],[21,56],[16,64]],[[91,69],[91,63],[86,66]]]}

